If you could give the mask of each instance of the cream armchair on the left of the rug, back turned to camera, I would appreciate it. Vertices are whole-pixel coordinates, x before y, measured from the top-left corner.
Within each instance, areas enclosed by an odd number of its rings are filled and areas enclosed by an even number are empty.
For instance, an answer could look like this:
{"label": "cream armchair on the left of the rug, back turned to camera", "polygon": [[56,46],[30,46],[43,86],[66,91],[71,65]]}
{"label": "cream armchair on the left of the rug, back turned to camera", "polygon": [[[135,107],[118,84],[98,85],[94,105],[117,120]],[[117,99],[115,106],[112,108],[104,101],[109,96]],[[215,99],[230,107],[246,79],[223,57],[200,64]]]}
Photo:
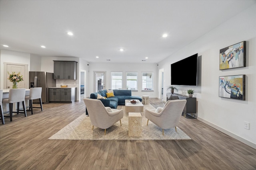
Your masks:
{"label": "cream armchair on the left of the rug, back turned to camera", "polygon": [[105,129],[106,135],[106,129],[116,122],[120,121],[120,125],[122,126],[121,119],[124,117],[124,111],[122,109],[118,110],[105,107],[98,99],[84,98],[84,104],[92,123],[92,130],[94,126]]}

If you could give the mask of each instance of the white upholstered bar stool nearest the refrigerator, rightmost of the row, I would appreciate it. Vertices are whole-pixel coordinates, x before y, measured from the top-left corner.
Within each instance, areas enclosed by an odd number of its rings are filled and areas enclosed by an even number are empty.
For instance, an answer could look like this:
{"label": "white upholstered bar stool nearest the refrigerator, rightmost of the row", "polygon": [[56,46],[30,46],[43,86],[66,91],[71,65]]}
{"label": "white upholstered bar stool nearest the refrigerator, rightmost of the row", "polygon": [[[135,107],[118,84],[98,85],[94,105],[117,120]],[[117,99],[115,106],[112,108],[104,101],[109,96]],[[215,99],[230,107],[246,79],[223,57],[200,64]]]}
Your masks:
{"label": "white upholstered bar stool nearest the refrigerator, rightmost of the row", "polygon": [[[34,87],[30,88],[29,96],[25,97],[25,100],[29,100],[29,110],[31,111],[31,114],[33,114],[33,108],[41,108],[41,111],[43,111],[43,106],[42,106],[42,87]],[[32,100],[39,99],[40,107],[33,107]]]}

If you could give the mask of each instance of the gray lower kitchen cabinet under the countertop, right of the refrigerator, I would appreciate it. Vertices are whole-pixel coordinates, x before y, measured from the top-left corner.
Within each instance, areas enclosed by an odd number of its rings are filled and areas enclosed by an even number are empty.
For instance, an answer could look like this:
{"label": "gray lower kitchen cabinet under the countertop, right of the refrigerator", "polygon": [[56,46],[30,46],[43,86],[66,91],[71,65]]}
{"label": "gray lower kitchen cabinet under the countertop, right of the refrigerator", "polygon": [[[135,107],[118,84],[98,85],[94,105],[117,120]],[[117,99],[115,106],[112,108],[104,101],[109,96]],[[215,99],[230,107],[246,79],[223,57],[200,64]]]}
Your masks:
{"label": "gray lower kitchen cabinet under the countertop, right of the refrigerator", "polygon": [[50,102],[75,102],[76,88],[49,88]]}

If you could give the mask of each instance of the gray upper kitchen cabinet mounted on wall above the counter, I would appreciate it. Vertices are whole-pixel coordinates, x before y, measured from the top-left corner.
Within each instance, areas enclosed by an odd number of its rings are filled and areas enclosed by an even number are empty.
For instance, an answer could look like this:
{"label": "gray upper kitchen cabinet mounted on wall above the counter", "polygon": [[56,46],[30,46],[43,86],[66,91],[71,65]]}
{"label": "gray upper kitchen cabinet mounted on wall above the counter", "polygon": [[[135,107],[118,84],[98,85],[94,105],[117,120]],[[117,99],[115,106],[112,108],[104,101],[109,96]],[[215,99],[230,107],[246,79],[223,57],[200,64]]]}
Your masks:
{"label": "gray upper kitchen cabinet mounted on wall above the counter", "polygon": [[76,61],[54,61],[54,79],[77,79]]}

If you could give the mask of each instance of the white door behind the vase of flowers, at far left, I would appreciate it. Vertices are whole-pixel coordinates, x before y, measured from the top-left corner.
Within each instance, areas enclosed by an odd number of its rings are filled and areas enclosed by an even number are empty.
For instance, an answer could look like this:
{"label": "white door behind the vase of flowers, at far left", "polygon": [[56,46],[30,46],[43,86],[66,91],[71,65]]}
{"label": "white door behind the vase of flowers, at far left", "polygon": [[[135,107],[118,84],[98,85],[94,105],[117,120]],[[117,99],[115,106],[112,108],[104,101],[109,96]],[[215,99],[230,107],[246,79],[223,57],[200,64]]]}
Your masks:
{"label": "white door behind the vase of flowers, at far left", "polygon": [[[21,82],[18,82],[18,88],[25,88],[25,84],[26,84],[26,81],[27,81],[27,78],[26,78],[26,72],[25,72],[25,65],[20,65],[20,64],[7,64],[7,72],[6,72],[6,77],[8,78],[9,77],[9,73],[12,73],[12,72],[20,72],[20,74],[22,75],[23,77],[23,81]],[[10,89],[12,88],[12,82],[10,82],[10,80],[7,80],[6,81],[6,89]]]}

